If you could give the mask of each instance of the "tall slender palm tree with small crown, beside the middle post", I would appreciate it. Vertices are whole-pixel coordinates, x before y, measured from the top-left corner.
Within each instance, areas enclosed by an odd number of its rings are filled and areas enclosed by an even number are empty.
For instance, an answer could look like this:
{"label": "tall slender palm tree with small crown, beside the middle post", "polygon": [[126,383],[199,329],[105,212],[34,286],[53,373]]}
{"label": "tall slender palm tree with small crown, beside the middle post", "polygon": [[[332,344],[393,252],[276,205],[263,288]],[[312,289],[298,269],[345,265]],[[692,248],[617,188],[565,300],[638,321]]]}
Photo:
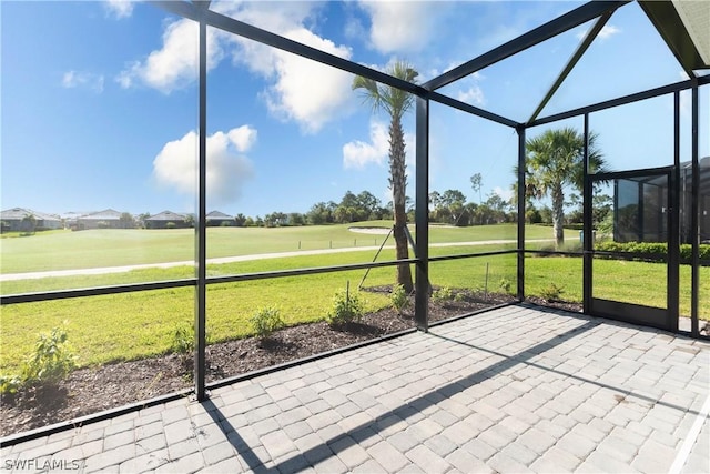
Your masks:
{"label": "tall slender palm tree with small crown, beside the middle post", "polygon": [[[387,74],[407,82],[414,82],[419,75],[405,61],[396,61],[386,71]],[[395,245],[397,248],[397,259],[408,259],[409,249],[407,246],[407,235],[405,233],[407,225],[406,212],[406,186],[407,177],[405,174],[405,142],[404,130],[402,129],[402,118],[414,102],[414,98],[408,92],[392,85],[384,85],[372,79],[355,77],[353,80],[353,90],[362,89],[363,97],[366,102],[373,107],[376,112],[384,109],[389,115],[389,188],[392,190],[393,208],[394,208],[394,235]],[[406,292],[412,292],[412,271],[408,264],[397,265],[397,283],[403,285]]]}

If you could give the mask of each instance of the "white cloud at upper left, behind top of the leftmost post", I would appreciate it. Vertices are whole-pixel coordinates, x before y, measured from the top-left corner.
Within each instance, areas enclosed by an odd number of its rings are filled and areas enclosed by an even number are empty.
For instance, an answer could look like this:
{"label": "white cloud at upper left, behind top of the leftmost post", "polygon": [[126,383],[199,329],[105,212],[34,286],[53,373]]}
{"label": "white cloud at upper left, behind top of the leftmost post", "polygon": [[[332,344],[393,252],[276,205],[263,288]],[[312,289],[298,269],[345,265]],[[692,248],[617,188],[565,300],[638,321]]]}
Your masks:
{"label": "white cloud at upper left, behind top of the leftmost post", "polygon": [[[220,33],[207,29],[207,70],[223,57]],[[169,23],[163,32],[163,46],[143,61],[123,70],[116,81],[123,88],[143,83],[163,93],[184,88],[197,79],[199,26],[192,20]]]}

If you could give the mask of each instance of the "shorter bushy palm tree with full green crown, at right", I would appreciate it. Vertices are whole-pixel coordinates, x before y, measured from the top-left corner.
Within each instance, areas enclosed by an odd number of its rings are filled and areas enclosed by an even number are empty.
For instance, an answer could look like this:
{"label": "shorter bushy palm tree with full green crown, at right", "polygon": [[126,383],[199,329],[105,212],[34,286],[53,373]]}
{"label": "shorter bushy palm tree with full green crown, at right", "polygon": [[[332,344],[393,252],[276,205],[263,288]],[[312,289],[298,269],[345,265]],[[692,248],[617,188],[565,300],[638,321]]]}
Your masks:
{"label": "shorter bushy palm tree with full green crown, at right", "polygon": [[[589,172],[605,171],[606,162],[596,145],[598,135],[589,134]],[[541,199],[549,194],[552,201],[552,233],[556,246],[565,243],[562,219],[565,216],[566,185],[581,192],[584,186],[585,137],[574,128],[547,130],[526,143],[526,195]]]}

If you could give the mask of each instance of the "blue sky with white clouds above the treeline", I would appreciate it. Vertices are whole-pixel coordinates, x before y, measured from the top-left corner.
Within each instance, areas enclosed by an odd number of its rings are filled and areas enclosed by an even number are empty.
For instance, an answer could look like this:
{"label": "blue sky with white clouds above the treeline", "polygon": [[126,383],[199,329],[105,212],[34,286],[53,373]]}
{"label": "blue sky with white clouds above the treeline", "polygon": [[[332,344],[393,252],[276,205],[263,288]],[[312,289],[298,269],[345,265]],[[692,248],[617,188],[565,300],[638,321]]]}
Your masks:
{"label": "blue sky with white clouds above the treeline", "polygon": [[[213,2],[213,10],[427,80],[579,2]],[[196,26],[140,2],[0,2],[1,208],[68,213],[194,211]],[[582,26],[440,92],[528,119],[578,46]],[[346,191],[387,190],[387,118],[352,75],[211,29],[209,210],[306,212]],[[687,79],[637,4],[620,9],[542,115]],[[701,131],[708,130],[708,88]],[[690,159],[683,94],[683,160]],[[507,198],[511,129],[432,105],[430,189]],[[611,168],[672,163],[672,98],[595,113]],[[581,130],[581,119],[559,125]],[[548,127],[530,130],[529,135]],[[414,160],[414,113],[405,121]],[[701,133],[701,157],[710,154]],[[409,194],[414,167],[409,164]]]}

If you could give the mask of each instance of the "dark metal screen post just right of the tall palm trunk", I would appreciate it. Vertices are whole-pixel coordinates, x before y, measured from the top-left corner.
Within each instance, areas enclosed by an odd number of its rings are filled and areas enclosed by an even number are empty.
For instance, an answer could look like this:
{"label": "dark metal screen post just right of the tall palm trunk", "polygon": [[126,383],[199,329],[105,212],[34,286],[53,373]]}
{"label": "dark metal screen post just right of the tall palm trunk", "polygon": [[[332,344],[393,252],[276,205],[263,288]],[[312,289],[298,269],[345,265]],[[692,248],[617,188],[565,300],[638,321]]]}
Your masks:
{"label": "dark metal screen post just right of the tall palm trunk", "polygon": [[414,319],[419,331],[429,329],[429,101],[416,100],[416,282]]}

